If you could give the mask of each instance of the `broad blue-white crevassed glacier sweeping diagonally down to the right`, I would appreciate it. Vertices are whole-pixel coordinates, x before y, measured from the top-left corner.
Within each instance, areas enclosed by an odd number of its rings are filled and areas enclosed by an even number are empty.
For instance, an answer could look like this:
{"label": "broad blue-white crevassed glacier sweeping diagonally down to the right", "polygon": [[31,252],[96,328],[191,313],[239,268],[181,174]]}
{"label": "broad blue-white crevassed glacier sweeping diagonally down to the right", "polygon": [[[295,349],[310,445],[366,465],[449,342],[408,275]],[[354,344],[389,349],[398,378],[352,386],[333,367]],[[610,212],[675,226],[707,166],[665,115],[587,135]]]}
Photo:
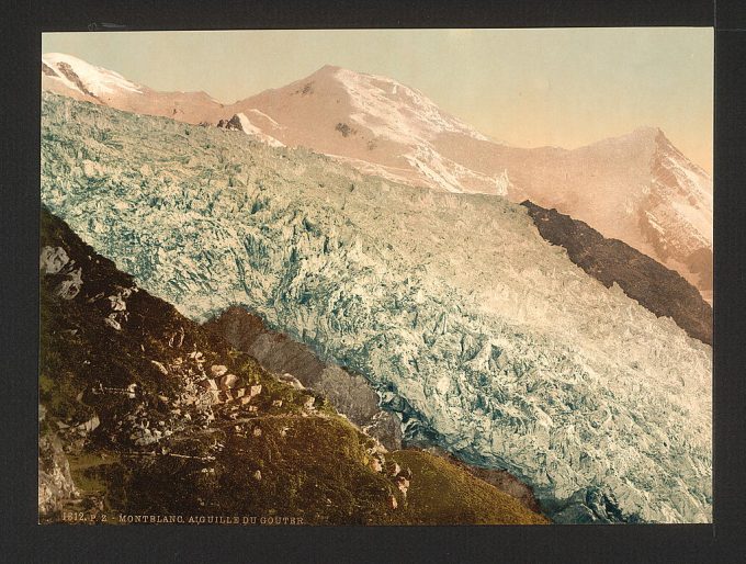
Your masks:
{"label": "broad blue-white crevassed glacier sweeping diagonally down to the right", "polygon": [[712,520],[712,349],[517,204],[55,94],[41,188],[147,291],[199,322],[256,312],[557,522]]}

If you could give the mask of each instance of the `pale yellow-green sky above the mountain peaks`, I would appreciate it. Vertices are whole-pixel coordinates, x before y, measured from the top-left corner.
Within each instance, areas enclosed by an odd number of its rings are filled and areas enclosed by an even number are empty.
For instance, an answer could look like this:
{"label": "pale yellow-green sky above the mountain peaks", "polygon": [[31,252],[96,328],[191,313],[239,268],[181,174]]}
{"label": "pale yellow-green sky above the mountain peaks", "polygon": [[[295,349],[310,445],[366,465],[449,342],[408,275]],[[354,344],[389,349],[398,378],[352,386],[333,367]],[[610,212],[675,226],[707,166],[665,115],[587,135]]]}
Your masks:
{"label": "pale yellow-green sky above the mountain peaks", "polygon": [[414,87],[519,147],[660,127],[712,172],[711,27],[46,33],[42,49],[222,102],[336,65]]}

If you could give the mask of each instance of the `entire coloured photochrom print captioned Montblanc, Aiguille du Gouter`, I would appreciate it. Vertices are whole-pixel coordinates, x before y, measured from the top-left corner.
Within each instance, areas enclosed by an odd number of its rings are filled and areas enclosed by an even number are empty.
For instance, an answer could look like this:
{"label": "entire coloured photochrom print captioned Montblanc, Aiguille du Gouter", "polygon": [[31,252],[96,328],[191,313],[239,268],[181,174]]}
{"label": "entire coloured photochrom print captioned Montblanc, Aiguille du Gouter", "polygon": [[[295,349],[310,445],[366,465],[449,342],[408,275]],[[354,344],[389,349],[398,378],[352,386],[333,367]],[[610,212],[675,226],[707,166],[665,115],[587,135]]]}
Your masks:
{"label": "entire coloured photochrom print captioned Montblanc, Aiguille du Gouter", "polygon": [[711,29],[49,33],[39,522],[712,521]]}

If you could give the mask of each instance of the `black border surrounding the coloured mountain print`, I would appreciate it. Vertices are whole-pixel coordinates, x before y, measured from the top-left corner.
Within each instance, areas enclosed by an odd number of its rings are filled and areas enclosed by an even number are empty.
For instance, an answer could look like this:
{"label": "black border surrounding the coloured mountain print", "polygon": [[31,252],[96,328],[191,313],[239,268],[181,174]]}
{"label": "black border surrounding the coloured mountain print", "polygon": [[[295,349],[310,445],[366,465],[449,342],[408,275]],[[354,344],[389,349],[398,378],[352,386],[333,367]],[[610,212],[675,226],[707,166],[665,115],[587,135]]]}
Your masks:
{"label": "black border surrounding the coloured mountain print", "polygon": [[[744,466],[744,235],[746,232],[746,8],[737,0],[465,0],[426,2],[36,1],[15,3],[3,34],[0,317],[5,478],[0,560],[7,562],[735,562],[746,554]],[[330,27],[715,26],[715,339],[712,526],[230,528],[37,526],[38,123],[41,33]],[[4,25],[8,25],[5,21]],[[354,555],[354,559],[353,559]]]}

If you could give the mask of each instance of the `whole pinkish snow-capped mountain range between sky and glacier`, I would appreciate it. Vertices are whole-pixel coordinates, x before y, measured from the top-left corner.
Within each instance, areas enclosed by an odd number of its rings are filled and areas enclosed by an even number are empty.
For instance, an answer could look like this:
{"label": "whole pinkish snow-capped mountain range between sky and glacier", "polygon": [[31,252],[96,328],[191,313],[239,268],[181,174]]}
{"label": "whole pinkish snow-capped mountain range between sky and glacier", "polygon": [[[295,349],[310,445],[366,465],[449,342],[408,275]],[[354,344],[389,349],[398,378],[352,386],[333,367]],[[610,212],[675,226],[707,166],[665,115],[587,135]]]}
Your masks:
{"label": "whole pinkish snow-capped mountain range between sky and glacier", "polygon": [[79,100],[236,128],[305,146],[389,180],[525,199],[584,221],[682,274],[712,298],[712,179],[654,127],[574,150],[489,139],[423,93],[325,66],[223,105],[204,92],[161,93],[67,55],[43,58],[44,87]]}

